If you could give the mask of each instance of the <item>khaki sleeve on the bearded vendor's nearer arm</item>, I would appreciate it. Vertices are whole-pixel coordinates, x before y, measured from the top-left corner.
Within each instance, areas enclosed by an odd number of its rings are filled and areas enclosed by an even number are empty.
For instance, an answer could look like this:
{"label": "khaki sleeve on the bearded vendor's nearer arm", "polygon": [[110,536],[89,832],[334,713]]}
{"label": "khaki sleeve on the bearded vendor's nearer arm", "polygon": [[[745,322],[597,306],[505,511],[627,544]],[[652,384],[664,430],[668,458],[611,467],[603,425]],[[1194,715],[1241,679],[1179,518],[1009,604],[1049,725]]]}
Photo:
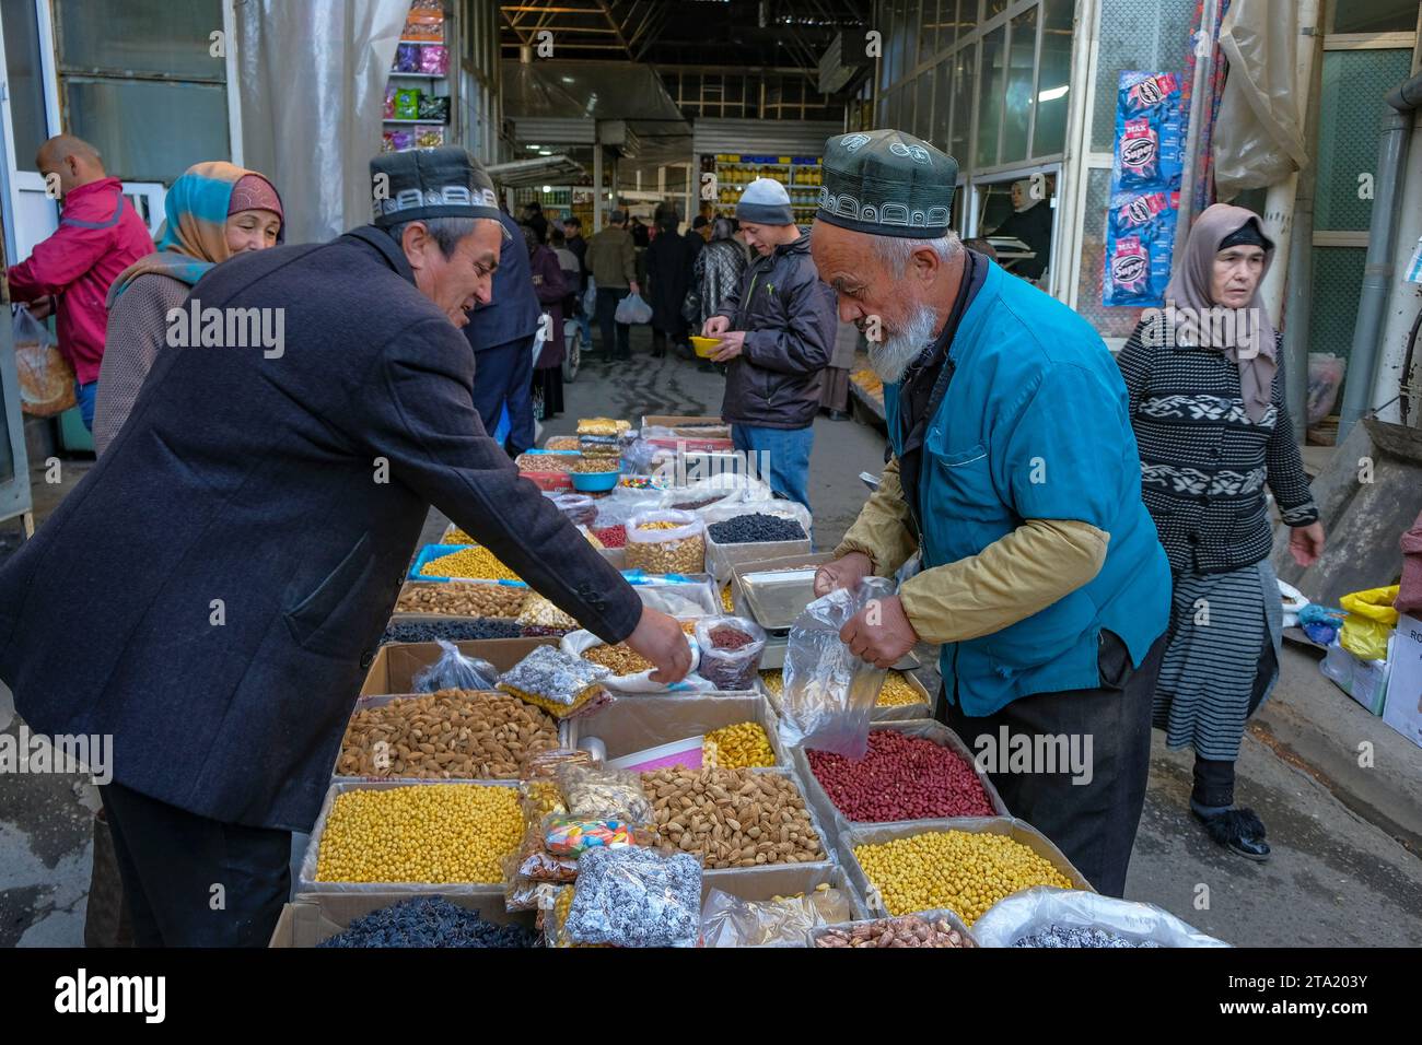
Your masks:
{"label": "khaki sleeve on the bearded vendor's nearer arm", "polygon": [[1028,519],[975,556],[910,577],[899,597],[919,638],[961,643],[1001,631],[1086,584],[1106,560],[1108,540],[1091,523]]}

